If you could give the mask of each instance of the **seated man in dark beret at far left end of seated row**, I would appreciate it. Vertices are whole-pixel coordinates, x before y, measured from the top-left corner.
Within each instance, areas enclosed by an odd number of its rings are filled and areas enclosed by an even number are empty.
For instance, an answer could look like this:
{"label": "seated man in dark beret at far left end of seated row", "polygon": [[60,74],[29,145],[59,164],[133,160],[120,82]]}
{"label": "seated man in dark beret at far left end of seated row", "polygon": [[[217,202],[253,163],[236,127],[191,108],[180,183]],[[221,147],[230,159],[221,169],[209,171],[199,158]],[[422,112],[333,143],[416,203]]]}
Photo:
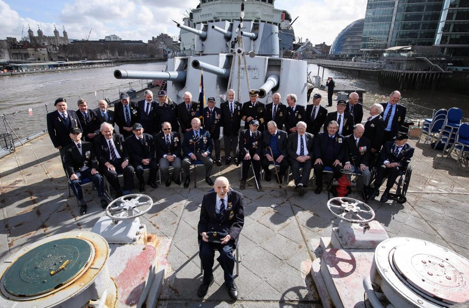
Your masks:
{"label": "seated man in dark beret at far left end of seated row", "polygon": [[93,144],[81,140],[82,130],[78,127],[70,130],[70,138],[73,142],[64,147],[64,167],[71,181],[72,191],[80,204],[80,214],[86,214],[86,202],[80,184],[80,181],[86,177],[89,177],[96,187],[98,198],[101,199],[101,207],[106,208],[107,199],[104,196],[103,178],[97,170],[98,161],[94,154]]}

